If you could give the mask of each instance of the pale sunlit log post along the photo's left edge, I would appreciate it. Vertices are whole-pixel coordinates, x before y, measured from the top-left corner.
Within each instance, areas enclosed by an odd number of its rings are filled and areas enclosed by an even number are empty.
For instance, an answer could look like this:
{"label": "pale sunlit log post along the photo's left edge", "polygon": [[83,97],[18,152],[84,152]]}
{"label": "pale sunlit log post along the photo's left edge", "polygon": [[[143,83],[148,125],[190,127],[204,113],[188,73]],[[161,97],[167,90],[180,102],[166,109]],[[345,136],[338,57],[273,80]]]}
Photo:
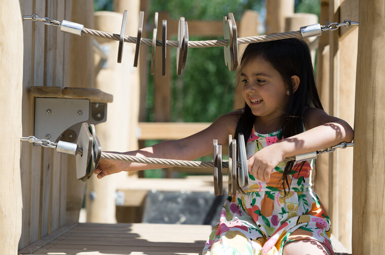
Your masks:
{"label": "pale sunlit log post along the photo's left edge", "polygon": [[[9,21],[12,20],[10,23]],[[0,5],[0,254],[17,254],[21,235],[20,137],[23,25],[19,1]]]}

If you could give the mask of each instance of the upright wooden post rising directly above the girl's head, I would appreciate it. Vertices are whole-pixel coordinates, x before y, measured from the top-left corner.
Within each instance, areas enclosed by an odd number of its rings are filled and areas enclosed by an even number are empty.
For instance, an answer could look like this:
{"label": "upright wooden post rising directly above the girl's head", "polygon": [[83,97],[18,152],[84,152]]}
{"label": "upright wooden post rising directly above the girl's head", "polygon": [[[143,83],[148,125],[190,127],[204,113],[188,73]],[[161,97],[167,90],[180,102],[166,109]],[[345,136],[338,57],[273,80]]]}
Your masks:
{"label": "upright wooden post rising directly above the girl's head", "polygon": [[294,0],[266,1],[266,33],[285,30],[285,17],[294,13]]}

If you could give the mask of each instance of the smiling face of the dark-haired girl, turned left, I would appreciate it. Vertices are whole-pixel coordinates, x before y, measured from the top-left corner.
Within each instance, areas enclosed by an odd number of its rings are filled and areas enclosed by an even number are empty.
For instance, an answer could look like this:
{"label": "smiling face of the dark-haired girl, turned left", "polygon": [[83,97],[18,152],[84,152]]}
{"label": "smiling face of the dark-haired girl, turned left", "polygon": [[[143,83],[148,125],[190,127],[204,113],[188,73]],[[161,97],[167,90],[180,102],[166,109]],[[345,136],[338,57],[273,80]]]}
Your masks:
{"label": "smiling face of the dark-haired girl, turned left", "polygon": [[242,95],[258,122],[273,125],[288,103],[288,85],[270,62],[260,57],[250,59],[241,73]]}

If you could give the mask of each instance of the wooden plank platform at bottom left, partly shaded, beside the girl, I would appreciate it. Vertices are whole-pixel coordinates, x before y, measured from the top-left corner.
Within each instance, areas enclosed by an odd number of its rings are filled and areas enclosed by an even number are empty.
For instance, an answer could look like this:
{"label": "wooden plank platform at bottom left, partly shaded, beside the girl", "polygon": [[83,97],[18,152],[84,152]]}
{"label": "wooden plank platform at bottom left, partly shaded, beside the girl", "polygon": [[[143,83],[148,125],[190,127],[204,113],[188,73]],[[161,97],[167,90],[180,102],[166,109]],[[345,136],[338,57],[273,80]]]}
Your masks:
{"label": "wooden plank platform at bottom left, partly shaded, beside the girl", "polygon": [[172,255],[202,254],[209,225],[95,224],[66,225],[19,254]]}

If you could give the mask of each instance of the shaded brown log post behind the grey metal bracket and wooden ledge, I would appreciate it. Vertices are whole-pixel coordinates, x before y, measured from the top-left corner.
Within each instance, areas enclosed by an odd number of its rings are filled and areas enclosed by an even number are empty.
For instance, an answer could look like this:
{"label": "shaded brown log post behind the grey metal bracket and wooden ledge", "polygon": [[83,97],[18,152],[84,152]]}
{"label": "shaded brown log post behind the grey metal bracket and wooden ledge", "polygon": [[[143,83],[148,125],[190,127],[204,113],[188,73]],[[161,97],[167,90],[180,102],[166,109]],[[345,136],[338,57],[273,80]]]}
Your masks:
{"label": "shaded brown log post behind the grey metal bracket and wooden ledge", "polygon": [[[72,3],[73,22],[83,24],[84,27],[93,28],[94,19],[93,1],[76,1]],[[70,87],[88,87],[94,85],[93,68],[93,37],[71,35],[70,38],[70,63],[69,82]],[[83,204],[85,183],[76,180],[75,157],[68,156],[67,173],[67,205],[66,222],[78,222],[80,210]]]}

